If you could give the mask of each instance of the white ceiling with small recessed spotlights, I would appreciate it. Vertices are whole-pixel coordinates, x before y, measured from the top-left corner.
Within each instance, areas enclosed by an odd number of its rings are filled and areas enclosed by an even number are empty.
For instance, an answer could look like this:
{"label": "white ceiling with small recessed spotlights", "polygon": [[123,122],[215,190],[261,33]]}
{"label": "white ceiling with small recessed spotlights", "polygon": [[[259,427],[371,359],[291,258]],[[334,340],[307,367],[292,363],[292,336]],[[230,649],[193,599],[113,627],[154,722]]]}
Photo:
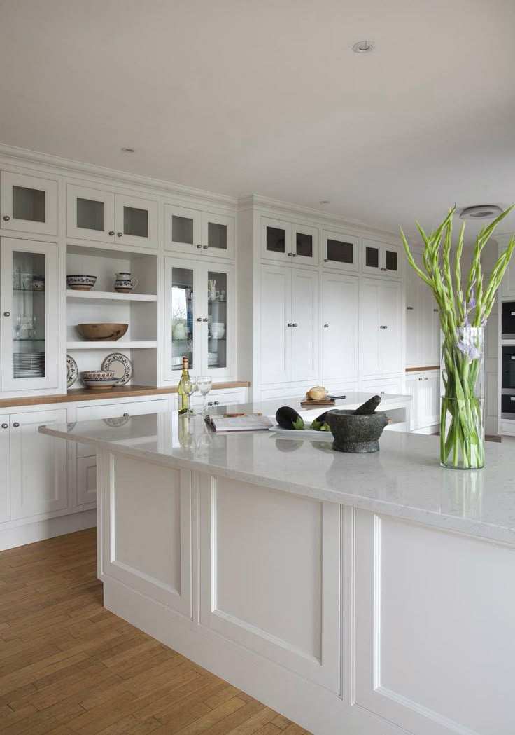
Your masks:
{"label": "white ceiling with small recessed spotlights", "polygon": [[514,28],[514,0],[0,0],[0,140],[431,227],[515,201]]}

